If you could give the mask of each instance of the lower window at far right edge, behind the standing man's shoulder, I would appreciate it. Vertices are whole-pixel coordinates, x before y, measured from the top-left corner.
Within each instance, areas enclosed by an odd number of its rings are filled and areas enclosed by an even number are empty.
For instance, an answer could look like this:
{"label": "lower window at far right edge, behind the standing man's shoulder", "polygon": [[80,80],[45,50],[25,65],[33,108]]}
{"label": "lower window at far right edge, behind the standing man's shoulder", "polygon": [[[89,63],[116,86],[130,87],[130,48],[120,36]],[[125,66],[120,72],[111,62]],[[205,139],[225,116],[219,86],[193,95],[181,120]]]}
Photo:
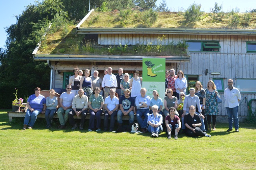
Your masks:
{"label": "lower window at far right edge, behind the standing man's shoulder", "polygon": [[236,79],[235,87],[240,92],[256,93],[256,79]]}

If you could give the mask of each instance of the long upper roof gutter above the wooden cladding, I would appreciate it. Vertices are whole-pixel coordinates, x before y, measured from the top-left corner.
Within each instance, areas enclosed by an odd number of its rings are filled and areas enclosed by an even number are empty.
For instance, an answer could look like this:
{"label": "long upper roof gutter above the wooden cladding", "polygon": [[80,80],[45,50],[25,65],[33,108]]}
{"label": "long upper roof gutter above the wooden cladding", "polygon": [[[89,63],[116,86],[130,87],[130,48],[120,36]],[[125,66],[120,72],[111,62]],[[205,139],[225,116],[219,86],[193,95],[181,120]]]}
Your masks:
{"label": "long upper roof gutter above the wooden cladding", "polygon": [[79,28],[78,34],[197,34],[256,35],[256,29],[205,28]]}

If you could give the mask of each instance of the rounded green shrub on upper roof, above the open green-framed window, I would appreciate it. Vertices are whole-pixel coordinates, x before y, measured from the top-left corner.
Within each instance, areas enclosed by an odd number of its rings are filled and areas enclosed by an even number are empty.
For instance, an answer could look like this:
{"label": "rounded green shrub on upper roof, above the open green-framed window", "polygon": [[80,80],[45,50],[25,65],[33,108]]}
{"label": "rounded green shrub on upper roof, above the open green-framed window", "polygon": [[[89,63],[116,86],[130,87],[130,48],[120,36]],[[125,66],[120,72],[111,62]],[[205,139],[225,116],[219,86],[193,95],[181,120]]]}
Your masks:
{"label": "rounded green shrub on upper roof, above the open green-framed window", "polygon": [[193,3],[189,6],[187,10],[185,10],[184,18],[188,23],[193,23],[200,20],[200,16],[202,12],[200,11],[201,4],[197,5],[197,3]]}

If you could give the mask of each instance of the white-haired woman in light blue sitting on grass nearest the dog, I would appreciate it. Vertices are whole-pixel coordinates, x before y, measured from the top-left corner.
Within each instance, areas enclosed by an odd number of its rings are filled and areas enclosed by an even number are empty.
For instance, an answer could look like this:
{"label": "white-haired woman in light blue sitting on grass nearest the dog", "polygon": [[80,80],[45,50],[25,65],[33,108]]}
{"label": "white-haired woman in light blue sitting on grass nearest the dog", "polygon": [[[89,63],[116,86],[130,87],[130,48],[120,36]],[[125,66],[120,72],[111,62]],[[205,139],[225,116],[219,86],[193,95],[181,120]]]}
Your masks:
{"label": "white-haired woman in light blue sitting on grass nearest the dog", "polygon": [[147,123],[149,124],[147,130],[151,132],[151,137],[158,137],[163,132],[163,116],[157,113],[158,106],[152,106],[153,113],[147,117]]}

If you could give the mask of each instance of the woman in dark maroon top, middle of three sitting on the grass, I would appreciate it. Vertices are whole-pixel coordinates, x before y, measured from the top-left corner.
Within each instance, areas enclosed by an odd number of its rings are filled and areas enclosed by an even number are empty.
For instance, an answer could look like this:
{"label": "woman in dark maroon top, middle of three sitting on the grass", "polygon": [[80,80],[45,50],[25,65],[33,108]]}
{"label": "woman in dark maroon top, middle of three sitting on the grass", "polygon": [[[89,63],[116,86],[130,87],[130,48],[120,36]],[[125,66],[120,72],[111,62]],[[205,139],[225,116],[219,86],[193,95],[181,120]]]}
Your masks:
{"label": "woman in dark maroon top, middle of three sitting on the grass", "polygon": [[176,109],[174,107],[171,107],[169,109],[169,114],[165,118],[165,124],[166,124],[166,132],[167,132],[167,138],[171,139],[171,135],[174,134],[174,139],[178,139],[178,134],[180,133],[181,123],[180,118],[175,115]]}

